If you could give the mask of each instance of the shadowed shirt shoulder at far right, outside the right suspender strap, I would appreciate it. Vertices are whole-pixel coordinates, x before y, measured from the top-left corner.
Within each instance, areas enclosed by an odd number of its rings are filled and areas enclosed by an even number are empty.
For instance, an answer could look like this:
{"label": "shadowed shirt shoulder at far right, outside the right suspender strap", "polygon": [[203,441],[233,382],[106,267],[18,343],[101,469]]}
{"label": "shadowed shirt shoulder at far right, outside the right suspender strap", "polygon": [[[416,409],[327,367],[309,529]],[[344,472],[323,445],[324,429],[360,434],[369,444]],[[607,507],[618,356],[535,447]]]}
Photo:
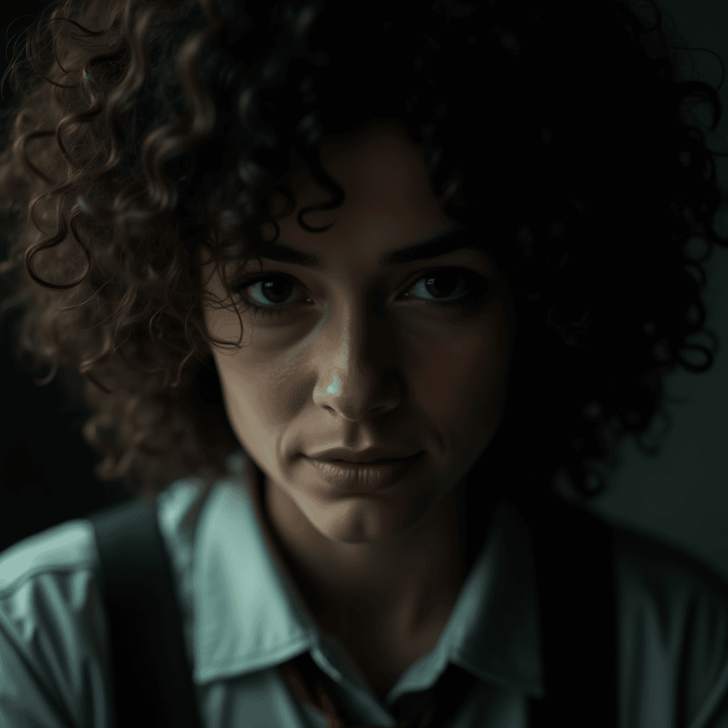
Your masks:
{"label": "shadowed shirt shoulder at far right, outside the right suspender strap", "polygon": [[623,719],[728,720],[728,580],[623,528],[614,529],[614,568]]}

